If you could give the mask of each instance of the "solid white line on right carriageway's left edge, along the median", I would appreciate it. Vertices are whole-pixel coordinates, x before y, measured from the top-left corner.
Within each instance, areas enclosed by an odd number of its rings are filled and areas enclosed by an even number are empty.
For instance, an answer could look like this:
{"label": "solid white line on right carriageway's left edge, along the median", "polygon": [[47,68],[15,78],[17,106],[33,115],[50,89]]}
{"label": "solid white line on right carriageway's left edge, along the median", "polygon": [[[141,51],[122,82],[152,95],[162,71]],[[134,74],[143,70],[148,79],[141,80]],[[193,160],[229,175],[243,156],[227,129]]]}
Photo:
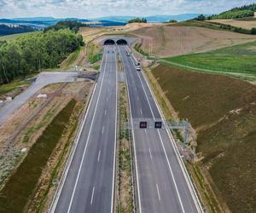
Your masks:
{"label": "solid white line on right carriageway's left edge, along the median", "polygon": [[[119,52],[121,52],[120,49],[119,49]],[[134,131],[133,131],[133,121],[132,121],[132,115],[131,115],[131,101],[130,101],[129,87],[128,87],[127,78],[126,78],[126,69],[125,69],[125,65],[124,65],[123,56],[122,56],[122,54],[120,54],[120,55],[121,55],[122,63],[123,63],[124,70],[125,70],[125,84],[126,84],[126,88],[127,88],[129,108],[130,108],[131,135],[132,135],[133,151],[134,151],[134,158],[135,158],[135,168],[136,168],[136,177],[137,177],[137,195],[138,195],[139,213],[143,213],[143,211],[142,211],[142,204],[141,204],[141,197],[140,197],[140,187],[139,187],[138,172],[137,172],[137,154],[136,154],[135,136],[134,136]]]}

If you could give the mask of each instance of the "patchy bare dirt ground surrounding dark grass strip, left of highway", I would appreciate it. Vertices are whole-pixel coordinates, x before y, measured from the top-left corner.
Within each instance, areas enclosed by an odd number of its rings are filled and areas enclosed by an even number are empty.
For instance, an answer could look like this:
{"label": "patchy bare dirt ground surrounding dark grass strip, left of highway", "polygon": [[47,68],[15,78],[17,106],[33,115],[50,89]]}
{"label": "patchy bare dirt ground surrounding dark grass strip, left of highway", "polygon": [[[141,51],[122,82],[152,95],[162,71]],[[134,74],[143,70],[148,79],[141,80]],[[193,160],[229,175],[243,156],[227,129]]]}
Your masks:
{"label": "patchy bare dirt ground surrounding dark grass strip, left of highway", "polygon": [[[55,93],[55,90],[59,89],[62,84],[63,83],[55,83],[49,85],[41,89],[38,93],[47,94],[48,98],[50,98],[50,96]],[[29,153],[30,149],[37,143],[36,141],[55,116],[67,106],[69,101],[76,100],[77,102],[75,112],[71,117],[73,122],[70,123],[68,131],[61,135],[63,142],[56,147],[54,153],[50,156],[47,166],[42,168],[44,173],[42,173],[43,176],[40,177],[37,190],[35,190],[35,193],[37,193],[33,195],[35,197],[32,199],[32,204],[27,205],[27,209],[33,209],[32,212],[38,210],[38,208],[41,209],[42,206],[44,206],[45,200],[47,200],[45,196],[49,191],[49,186],[51,186],[52,178],[61,170],[61,165],[65,161],[70,144],[72,144],[70,140],[79,123],[80,112],[83,109],[84,103],[88,100],[88,96],[90,96],[93,84],[94,83],[90,80],[65,83],[66,86],[61,89],[61,93],[55,95],[49,102],[49,105],[40,111],[12,141],[10,141],[9,138],[12,137],[11,135],[15,133],[15,130],[17,130],[20,125],[24,124],[27,118],[32,116],[33,113],[38,112],[38,109],[44,105],[44,102],[47,101],[48,98],[40,99],[35,95],[0,127],[0,144],[2,146],[0,149],[0,166],[1,170],[4,171],[4,174],[1,173],[1,183],[4,188],[4,183],[9,181],[9,175],[15,173],[15,168],[19,170],[20,164],[23,162],[22,159],[26,158],[26,154]],[[24,150],[24,152],[22,152],[22,150]],[[4,163],[4,159],[7,159],[6,163]]]}

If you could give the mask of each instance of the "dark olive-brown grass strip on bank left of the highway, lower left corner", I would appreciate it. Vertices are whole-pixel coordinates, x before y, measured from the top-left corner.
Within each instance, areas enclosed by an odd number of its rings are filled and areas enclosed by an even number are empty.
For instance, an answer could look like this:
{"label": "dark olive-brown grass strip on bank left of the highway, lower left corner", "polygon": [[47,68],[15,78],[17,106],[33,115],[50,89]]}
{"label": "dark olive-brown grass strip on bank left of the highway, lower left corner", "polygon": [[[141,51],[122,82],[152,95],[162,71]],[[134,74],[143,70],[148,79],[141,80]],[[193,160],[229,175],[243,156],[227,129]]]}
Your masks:
{"label": "dark olive-brown grass strip on bank left of the highway, lower left corner", "polygon": [[38,141],[10,176],[0,193],[1,212],[22,212],[37,187],[38,178],[55,149],[66,124],[73,113],[76,101],[69,101],[66,107],[53,119]]}

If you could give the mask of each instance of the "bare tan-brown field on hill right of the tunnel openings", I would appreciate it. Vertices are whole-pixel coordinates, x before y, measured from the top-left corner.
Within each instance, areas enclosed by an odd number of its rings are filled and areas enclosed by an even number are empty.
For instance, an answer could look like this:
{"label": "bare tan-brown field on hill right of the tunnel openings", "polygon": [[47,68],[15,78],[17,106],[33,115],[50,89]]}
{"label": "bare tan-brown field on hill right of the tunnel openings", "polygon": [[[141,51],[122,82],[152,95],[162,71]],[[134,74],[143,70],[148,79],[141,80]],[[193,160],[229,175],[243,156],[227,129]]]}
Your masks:
{"label": "bare tan-brown field on hill right of the tunnel openings", "polygon": [[132,34],[143,39],[146,53],[157,57],[202,53],[256,40],[251,35],[192,26],[151,26]]}

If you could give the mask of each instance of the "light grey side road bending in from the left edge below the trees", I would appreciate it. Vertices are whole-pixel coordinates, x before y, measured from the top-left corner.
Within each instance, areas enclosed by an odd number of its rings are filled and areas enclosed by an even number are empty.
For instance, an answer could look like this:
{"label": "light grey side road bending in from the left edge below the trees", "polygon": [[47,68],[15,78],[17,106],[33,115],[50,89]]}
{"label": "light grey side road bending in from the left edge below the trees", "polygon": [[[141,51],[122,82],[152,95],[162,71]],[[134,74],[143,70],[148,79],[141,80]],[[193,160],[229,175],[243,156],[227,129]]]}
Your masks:
{"label": "light grey side road bending in from the left edge below the trees", "polygon": [[39,89],[50,83],[73,82],[77,77],[77,72],[41,72],[29,88],[16,96],[13,101],[6,102],[3,107],[0,107],[0,125],[35,95]]}

